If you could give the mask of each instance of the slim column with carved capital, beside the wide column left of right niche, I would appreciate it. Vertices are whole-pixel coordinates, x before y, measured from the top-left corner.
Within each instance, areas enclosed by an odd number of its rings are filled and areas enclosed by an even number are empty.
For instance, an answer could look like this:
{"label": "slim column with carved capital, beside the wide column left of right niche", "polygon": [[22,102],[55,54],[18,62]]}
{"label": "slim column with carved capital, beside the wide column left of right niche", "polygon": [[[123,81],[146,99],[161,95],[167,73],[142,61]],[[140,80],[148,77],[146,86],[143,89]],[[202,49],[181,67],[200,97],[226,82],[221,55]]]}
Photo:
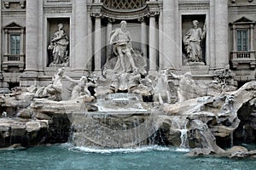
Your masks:
{"label": "slim column with carved capital, beside the wide column left of right niche", "polygon": [[156,46],[156,24],[155,14],[150,14],[149,18],[149,71],[157,70],[157,46]]}

